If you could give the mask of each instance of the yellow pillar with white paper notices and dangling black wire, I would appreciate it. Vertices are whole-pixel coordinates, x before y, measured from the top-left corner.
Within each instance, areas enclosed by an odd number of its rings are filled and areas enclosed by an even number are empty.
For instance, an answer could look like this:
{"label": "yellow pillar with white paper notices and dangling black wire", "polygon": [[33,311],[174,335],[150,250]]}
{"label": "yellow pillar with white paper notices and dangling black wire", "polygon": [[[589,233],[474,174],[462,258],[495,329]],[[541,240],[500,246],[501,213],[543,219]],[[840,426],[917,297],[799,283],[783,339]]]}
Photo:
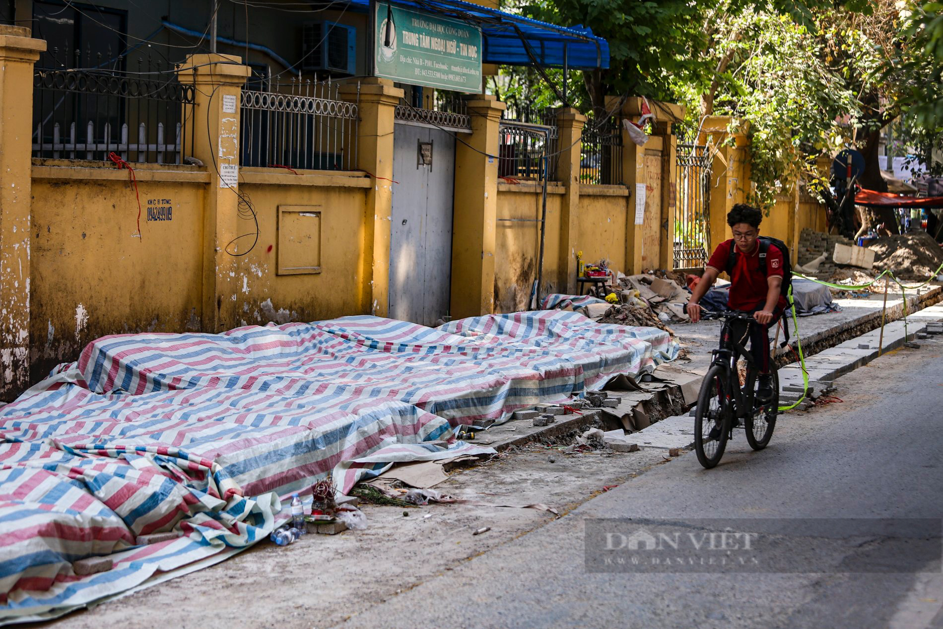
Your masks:
{"label": "yellow pillar with white paper notices and dangling black wire", "polygon": [[193,138],[193,157],[210,174],[203,223],[202,325],[206,332],[223,332],[239,325],[234,299],[241,288],[239,256],[255,240],[245,236],[255,234],[255,221],[240,219],[238,181],[240,93],[251,73],[233,55],[190,55],[178,73],[181,83],[194,86],[187,136]]}

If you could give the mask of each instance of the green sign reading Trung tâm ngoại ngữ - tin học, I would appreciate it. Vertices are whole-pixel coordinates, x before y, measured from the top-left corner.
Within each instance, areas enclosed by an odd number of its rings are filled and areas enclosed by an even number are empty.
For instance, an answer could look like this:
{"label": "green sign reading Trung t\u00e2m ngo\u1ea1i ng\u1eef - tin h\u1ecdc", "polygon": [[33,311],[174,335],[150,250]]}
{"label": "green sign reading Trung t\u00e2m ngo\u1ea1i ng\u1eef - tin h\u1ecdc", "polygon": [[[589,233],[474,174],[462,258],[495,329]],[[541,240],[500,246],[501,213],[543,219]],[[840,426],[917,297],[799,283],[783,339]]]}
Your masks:
{"label": "green sign reading Trung t\u00e2m ngo\u1ea1i ng\u1eef - tin h\u1ecdc", "polygon": [[[389,20],[391,15],[392,20]],[[481,92],[481,29],[376,3],[376,71],[400,83]]]}

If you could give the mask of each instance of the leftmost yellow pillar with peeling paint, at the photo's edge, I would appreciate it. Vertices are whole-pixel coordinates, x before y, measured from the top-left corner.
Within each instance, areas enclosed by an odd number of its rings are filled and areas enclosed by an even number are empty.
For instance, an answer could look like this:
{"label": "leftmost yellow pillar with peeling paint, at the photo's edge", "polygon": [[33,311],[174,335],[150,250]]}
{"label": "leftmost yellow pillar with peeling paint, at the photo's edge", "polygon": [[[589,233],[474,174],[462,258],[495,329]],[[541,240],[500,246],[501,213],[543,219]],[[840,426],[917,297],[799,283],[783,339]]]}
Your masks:
{"label": "leftmost yellow pillar with peeling paint, at the photo's edge", "polygon": [[33,65],[46,49],[0,25],[0,399],[29,386]]}

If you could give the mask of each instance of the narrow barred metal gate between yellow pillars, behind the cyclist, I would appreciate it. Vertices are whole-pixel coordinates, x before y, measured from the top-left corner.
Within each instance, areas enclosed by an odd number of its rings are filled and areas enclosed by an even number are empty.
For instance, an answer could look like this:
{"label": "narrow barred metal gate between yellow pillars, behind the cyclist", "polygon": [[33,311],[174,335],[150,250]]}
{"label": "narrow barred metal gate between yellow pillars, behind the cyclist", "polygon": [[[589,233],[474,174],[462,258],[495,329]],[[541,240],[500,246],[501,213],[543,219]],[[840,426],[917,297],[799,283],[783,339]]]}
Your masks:
{"label": "narrow barred metal gate between yellow pillars, behind the cyclist", "polygon": [[678,144],[672,250],[675,269],[703,267],[710,257],[710,166],[709,147]]}

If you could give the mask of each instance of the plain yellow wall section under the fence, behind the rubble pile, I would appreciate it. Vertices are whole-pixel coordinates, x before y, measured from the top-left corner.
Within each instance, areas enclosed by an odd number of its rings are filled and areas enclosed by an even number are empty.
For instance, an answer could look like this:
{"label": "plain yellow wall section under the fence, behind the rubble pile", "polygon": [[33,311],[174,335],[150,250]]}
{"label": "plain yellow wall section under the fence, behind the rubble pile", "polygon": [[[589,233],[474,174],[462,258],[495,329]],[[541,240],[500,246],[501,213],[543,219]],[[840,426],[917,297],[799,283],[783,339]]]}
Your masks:
{"label": "plain yellow wall section under the fence, behind the rubble pile", "polygon": [[[609,268],[628,273],[625,264],[625,239],[628,222],[626,196],[591,194],[587,186],[580,187],[579,229],[576,250],[583,252],[583,261],[609,260]],[[635,225],[631,225],[634,227]]]}

